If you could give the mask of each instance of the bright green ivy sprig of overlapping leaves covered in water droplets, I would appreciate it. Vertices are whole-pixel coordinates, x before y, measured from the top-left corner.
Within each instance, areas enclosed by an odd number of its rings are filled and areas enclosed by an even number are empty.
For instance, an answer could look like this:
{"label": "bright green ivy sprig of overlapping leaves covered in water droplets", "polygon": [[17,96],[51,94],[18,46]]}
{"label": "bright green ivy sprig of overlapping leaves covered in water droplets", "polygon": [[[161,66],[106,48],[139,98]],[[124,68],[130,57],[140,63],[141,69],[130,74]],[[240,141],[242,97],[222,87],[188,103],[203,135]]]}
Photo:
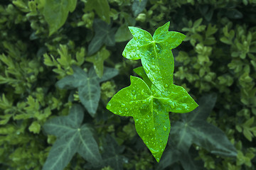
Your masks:
{"label": "bright green ivy sprig of overlapping leaves covered in water droplets", "polygon": [[[157,162],[171,129],[169,112],[188,113],[198,107],[183,87],[173,84],[171,49],[180,45],[186,35],[169,31],[169,24],[157,28],[153,37],[146,30],[129,27],[133,38],[124,48],[123,56],[142,60],[146,82],[131,76],[131,85],[118,91],[107,103],[112,113],[134,118],[139,136]],[[137,72],[142,73],[142,69]]]}

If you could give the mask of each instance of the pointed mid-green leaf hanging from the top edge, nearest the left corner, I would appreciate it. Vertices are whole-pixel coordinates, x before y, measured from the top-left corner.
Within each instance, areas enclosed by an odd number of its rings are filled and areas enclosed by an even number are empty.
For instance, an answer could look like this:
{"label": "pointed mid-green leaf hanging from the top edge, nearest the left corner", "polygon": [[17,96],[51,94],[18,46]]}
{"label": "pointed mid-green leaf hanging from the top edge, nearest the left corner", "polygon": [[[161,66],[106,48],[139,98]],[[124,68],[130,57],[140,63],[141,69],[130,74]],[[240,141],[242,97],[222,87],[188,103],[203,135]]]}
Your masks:
{"label": "pointed mid-green leaf hanging from the top edge, nearest the left corner", "polygon": [[77,0],[46,0],[43,16],[50,27],[49,35],[56,32],[68,18],[68,13],[75,10]]}

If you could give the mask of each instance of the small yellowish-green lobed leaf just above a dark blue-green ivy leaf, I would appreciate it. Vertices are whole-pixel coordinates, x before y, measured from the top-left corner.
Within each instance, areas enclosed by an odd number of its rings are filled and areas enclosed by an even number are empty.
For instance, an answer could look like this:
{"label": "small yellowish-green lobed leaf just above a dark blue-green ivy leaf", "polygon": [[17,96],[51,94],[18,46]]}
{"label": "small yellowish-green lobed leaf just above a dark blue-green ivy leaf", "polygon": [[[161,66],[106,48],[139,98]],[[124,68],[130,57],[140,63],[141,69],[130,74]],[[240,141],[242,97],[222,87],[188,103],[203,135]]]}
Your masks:
{"label": "small yellowish-green lobed leaf just above a dark blue-green ivy leaf", "polygon": [[85,61],[93,63],[97,76],[101,78],[103,75],[103,69],[104,69],[103,62],[108,57],[110,57],[110,52],[106,50],[105,47],[103,47],[102,50],[97,52],[95,55],[86,57]]}

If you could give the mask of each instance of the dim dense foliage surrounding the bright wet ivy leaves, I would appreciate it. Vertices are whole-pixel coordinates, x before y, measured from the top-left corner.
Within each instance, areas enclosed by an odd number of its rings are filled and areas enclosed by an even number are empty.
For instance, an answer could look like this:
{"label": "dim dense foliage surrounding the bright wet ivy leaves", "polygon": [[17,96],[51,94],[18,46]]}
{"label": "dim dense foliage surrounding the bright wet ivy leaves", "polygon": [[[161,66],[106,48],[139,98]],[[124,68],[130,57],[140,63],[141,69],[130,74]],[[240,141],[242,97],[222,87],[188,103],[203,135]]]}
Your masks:
{"label": "dim dense foliage surrounding the bright wet ivy leaves", "polygon": [[[0,1],[0,169],[256,169],[255,7],[254,0]],[[152,34],[168,21],[186,35],[172,50],[174,84],[200,106],[169,113],[157,164],[132,118],[105,107],[130,75],[143,77],[133,72],[139,61],[122,57],[132,38],[127,26]],[[80,94],[86,82],[93,98]]]}

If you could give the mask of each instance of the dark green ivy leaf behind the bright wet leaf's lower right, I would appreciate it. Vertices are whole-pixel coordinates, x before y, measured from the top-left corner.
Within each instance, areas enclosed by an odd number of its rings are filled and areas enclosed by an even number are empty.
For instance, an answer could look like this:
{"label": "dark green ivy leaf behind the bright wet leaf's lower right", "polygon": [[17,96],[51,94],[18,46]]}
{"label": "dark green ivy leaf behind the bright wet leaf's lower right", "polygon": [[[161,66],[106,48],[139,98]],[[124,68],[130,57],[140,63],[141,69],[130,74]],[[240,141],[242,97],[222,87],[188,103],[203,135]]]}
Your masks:
{"label": "dark green ivy leaf behind the bright wet leaf's lower right", "polygon": [[[215,106],[215,101],[216,96],[213,94],[203,96],[198,101],[198,108],[191,113],[183,114],[182,121],[172,124],[169,138],[171,140],[169,141],[171,151],[168,152],[169,155],[166,155],[166,157],[173,157],[177,152],[180,153],[180,155],[188,154],[188,149],[193,143],[207,149],[213,154],[224,157],[236,157],[236,149],[230,143],[225,133],[214,125],[210,125],[206,122],[206,118]],[[186,169],[185,166],[188,166],[186,165],[188,162],[183,162],[183,156],[177,157],[183,165],[183,168]],[[165,158],[163,158],[163,160],[165,160]],[[172,163],[173,162],[166,164],[160,162],[159,166],[164,164],[163,166],[166,167]]]}

